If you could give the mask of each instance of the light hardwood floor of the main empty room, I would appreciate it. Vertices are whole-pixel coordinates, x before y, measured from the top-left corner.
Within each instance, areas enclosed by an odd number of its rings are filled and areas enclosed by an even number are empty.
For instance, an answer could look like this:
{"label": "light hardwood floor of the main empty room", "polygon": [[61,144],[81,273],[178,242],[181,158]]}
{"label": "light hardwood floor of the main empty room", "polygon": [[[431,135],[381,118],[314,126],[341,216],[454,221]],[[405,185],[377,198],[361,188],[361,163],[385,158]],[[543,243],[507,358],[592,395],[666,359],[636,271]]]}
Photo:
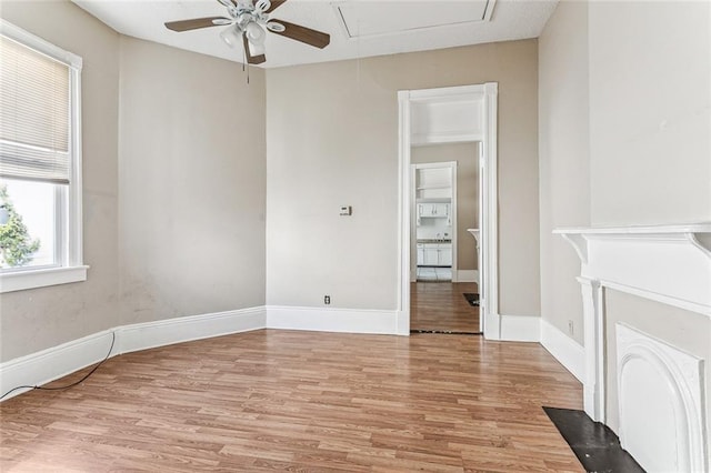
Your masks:
{"label": "light hardwood floor of the main empty room", "polygon": [[534,343],[260,330],[3,402],[0,471],[582,472],[541,409],[581,404]]}

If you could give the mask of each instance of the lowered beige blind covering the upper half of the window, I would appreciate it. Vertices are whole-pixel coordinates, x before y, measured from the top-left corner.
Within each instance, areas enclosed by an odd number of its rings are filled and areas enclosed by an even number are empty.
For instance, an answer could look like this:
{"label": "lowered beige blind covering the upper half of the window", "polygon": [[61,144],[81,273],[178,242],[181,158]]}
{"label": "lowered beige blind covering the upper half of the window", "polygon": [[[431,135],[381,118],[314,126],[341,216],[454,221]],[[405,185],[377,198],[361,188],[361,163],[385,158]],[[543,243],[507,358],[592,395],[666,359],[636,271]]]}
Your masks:
{"label": "lowered beige blind covering the upper half of the window", "polygon": [[69,183],[70,73],[0,34],[0,177]]}

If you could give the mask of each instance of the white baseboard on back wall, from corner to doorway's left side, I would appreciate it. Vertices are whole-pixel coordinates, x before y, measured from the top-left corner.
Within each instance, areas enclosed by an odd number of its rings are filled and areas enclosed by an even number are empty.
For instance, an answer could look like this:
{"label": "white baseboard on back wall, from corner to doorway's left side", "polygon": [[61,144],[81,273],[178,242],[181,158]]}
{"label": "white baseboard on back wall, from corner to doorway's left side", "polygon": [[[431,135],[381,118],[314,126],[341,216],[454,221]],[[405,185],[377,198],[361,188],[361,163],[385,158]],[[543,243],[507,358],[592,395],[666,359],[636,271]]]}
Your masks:
{"label": "white baseboard on back wall, from corner to doorway's left side", "polygon": [[369,309],[267,306],[269,329],[398,334],[398,312]]}

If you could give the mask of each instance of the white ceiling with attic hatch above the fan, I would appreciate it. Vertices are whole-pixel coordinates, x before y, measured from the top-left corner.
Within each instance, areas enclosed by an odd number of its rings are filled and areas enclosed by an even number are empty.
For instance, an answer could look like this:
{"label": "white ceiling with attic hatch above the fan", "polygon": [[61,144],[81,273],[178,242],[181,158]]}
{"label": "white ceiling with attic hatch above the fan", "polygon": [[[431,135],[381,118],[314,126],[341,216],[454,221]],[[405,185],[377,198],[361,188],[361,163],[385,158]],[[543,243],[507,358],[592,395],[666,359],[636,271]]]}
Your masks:
{"label": "white ceiling with attic hatch above the fan", "polygon": [[[241,62],[224,27],[184,32],[166,21],[226,13],[217,0],[72,0],[120,33]],[[271,13],[331,34],[326,49],[269,33],[266,68],[537,38],[558,0],[289,0]]]}

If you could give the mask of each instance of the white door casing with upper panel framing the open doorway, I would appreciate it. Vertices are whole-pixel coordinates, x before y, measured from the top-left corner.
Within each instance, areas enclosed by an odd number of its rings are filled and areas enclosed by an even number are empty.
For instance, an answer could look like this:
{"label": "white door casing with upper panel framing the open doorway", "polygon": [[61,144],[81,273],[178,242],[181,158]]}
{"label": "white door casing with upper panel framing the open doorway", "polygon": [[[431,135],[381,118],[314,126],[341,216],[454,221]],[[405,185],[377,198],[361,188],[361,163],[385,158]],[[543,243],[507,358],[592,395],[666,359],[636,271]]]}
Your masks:
{"label": "white door casing with upper panel framing the open doorway", "polygon": [[[411,329],[412,288],[412,149],[442,143],[479,143],[479,227],[471,241],[479,243],[479,328],[487,339],[500,338],[497,284],[497,83],[400,91],[400,259],[397,331]],[[465,229],[464,229],[465,230]],[[479,238],[474,240],[474,234]],[[417,273],[417,272],[415,272]],[[453,273],[453,279],[458,273]],[[453,283],[453,282],[452,282]],[[450,284],[452,284],[450,283]],[[417,284],[417,279],[415,279]],[[463,299],[463,296],[462,296]],[[464,299],[463,299],[464,300]],[[419,299],[415,299],[415,302]],[[442,294],[439,303],[442,304]],[[467,302],[464,300],[464,302]]]}

